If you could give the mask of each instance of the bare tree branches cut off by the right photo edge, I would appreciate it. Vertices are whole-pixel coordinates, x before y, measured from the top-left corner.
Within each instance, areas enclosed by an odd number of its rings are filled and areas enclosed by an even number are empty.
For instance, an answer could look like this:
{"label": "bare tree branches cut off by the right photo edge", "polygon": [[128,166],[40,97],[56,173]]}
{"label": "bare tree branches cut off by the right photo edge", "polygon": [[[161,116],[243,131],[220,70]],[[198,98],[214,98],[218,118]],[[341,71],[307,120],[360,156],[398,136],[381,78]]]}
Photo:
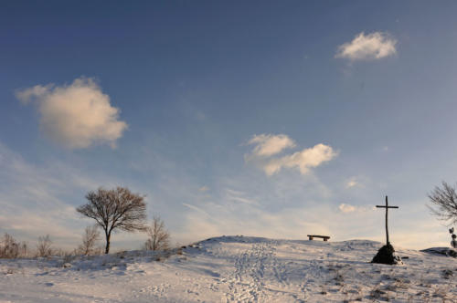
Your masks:
{"label": "bare tree branches cut off by the right photo edge", "polygon": [[443,221],[448,221],[450,225],[457,224],[457,193],[455,193],[455,187],[443,181],[441,187],[435,186],[429,194],[429,198],[432,205],[428,206],[432,214],[437,215]]}

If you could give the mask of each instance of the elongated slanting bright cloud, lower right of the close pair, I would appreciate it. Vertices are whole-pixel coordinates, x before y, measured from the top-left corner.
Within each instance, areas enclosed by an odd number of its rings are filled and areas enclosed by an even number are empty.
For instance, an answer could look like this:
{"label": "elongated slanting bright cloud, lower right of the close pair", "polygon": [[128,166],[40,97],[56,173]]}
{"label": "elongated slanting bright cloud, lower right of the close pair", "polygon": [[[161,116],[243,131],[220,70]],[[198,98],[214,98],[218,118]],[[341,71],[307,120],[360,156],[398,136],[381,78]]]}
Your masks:
{"label": "elongated slanting bright cloud, lower right of the close pair", "polygon": [[334,159],[337,154],[331,146],[320,143],[282,158],[271,159],[264,163],[263,171],[267,175],[272,175],[282,168],[298,168],[302,174],[306,174],[311,168]]}

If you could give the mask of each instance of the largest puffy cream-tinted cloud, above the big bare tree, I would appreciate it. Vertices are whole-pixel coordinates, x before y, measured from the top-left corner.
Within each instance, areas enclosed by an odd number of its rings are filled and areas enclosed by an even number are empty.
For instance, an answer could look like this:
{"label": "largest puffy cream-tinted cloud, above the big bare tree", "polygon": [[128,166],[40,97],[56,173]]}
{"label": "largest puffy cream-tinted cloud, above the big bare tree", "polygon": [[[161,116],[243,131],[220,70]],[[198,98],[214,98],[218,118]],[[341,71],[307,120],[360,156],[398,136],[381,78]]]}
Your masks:
{"label": "largest puffy cream-tinted cloud, above the big bare tree", "polygon": [[69,149],[92,144],[115,146],[127,124],[120,110],[91,78],[77,78],[70,85],[37,85],[16,92],[25,104],[34,100],[40,114],[40,129],[53,141]]}

